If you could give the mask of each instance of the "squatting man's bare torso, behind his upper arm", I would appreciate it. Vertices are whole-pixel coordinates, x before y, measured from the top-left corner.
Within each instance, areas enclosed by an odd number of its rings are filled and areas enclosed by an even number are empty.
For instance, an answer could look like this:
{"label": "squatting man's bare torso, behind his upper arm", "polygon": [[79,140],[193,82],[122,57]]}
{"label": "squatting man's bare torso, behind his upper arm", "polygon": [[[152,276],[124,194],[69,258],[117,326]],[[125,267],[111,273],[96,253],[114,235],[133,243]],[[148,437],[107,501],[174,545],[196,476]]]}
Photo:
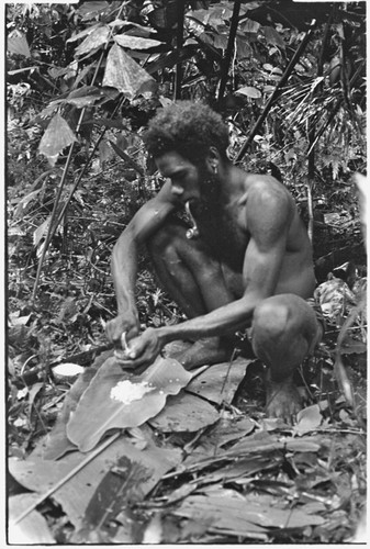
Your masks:
{"label": "squatting man's bare torso, behind his upper arm", "polygon": [[[238,168],[233,168],[233,176],[226,192],[204,205],[192,205],[200,238],[206,243],[212,256],[222,264],[227,285],[236,298],[245,290],[244,259],[251,236],[246,214],[248,197],[256,186],[265,189],[268,186],[287,195],[291,209],[285,254],[274,293],[295,293],[309,298],[315,287],[312,248],[289,191],[270,176],[247,176]],[[256,214],[264,217],[264,211]]]}

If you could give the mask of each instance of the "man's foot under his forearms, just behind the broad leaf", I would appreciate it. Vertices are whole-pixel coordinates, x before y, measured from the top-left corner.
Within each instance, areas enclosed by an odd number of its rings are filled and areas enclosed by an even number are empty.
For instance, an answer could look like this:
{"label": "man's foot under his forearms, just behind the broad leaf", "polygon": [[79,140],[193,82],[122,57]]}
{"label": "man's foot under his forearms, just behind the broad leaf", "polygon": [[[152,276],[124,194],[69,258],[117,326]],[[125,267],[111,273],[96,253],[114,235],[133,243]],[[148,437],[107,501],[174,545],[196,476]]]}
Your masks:
{"label": "man's foot under his forearms, just behind the broad leaf", "polygon": [[218,337],[199,339],[191,347],[179,354],[171,355],[186,370],[199,366],[215,365],[231,359],[233,349],[223,345]]}

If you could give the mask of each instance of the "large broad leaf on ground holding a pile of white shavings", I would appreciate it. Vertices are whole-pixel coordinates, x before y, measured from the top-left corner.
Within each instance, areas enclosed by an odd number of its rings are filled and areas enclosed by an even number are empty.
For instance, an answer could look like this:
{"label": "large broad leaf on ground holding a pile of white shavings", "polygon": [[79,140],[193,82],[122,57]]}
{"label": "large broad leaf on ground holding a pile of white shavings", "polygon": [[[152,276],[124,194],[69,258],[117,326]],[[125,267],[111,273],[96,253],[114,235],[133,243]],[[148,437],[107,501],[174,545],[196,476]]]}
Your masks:
{"label": "large broad leaf on ground holding a pile of white shavings", "polygon": [[[106,430],[136,427],[156,416],[167,395],[179,393],[190,379],[191,373],[170,358],[159,357],[142,376],[124,372],[115,358],[108,359],[82,394],[67,425],[67,436],[80,451],[89,451]],[[143,390],[142,397],[119,400],[123,382],[132,393]],[[97,403],[102,403],[99,414]]]}

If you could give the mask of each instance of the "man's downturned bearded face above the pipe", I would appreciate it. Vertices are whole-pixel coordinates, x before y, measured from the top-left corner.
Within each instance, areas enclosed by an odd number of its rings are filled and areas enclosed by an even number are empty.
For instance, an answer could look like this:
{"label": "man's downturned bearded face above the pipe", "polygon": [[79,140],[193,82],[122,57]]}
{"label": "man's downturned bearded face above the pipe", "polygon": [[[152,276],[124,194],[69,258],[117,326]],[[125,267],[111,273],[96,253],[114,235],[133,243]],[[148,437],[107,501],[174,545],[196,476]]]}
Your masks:
{"label": "man's downturned bearded face above the pipe", "polygon": [[171,192],[183,204],[204,198],[204,182],[212,173],[204,167],[198,167],[179,153],[171,150],[156,158],[161,176],[171,180]]}

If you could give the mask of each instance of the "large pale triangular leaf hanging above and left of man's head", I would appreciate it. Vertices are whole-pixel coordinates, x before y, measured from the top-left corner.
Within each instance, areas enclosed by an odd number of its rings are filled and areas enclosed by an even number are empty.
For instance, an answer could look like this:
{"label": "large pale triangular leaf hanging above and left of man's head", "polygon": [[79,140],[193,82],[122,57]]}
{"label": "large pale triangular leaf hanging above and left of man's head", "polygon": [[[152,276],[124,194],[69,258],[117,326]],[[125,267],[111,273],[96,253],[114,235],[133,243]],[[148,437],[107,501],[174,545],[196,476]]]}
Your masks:
{"label": "large pale triangular leaf hanging above and left of man's head", "polygon": [[157,83],[124,49],[114,44],[106,59],[103,86],[120,90],[130,100],[145,91],[154,91]]}

